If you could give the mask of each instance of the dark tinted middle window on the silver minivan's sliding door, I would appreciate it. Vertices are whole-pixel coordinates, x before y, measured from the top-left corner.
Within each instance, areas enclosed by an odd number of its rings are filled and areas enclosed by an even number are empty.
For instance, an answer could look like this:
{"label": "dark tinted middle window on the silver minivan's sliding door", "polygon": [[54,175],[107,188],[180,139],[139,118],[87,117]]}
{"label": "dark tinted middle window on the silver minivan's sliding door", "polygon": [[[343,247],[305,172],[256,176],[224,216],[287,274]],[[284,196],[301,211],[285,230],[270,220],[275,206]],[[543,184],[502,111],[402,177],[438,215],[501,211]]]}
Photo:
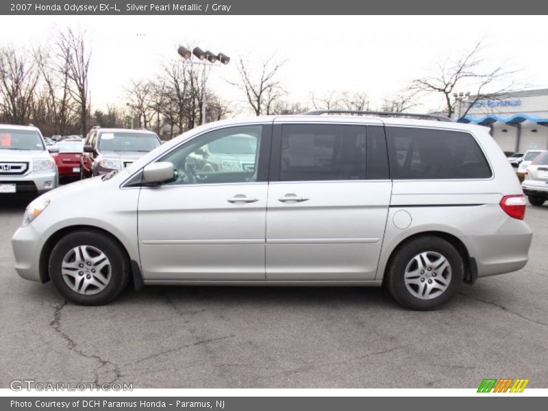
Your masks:
{"label": "dark tinted middle window on the silver minivan's sliding door", "polygon": [[280,181],[365,179],[365,127],[284,125]]}

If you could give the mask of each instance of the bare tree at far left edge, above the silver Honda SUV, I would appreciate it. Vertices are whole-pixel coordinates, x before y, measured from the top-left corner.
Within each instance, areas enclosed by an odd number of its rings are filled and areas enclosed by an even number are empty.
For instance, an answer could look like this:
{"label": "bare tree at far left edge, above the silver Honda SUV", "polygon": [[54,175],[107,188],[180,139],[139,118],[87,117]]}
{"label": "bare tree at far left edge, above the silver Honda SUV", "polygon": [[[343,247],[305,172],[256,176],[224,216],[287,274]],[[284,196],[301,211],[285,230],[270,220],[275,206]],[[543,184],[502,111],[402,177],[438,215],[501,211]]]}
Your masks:
{"label": "bare tree at far left edge, above the silver Honda SUV", "polygon": [[11,46],[0,49],[0,111],[5,121],[29,121],[38,77],[32,53]]}

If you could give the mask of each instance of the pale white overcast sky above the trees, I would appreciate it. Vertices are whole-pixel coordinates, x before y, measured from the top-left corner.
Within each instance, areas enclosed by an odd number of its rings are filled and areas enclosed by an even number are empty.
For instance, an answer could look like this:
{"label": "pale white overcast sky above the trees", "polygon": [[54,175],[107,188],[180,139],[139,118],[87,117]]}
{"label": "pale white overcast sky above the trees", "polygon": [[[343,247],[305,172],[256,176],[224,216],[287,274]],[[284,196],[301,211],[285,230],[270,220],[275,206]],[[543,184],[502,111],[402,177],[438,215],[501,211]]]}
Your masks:
{"label": "pale white overcast sky above the trees", "polygon": [[[93,108],[121,103],[130,79],[153,77],[177,58],[179,44],[223,51],[232,61],[212,71],[208,88],[243,101],[236,60],[287,60],[280,79],[293,101],[310,92],[367,92],[375,104],[425,75],[432,63],[486,38],[483,56],[521,69],[519,80],[548,88],[545,16],[10,16],[0,43],[45,44],[55,27],[85,29],[92,46]],[[462,90],[466,91],[466,90]],[[472,90],[473,91],[473,90]],[[428,102],[435,105],[433,101]],[[435,107],[433,107],[435,108]]]}

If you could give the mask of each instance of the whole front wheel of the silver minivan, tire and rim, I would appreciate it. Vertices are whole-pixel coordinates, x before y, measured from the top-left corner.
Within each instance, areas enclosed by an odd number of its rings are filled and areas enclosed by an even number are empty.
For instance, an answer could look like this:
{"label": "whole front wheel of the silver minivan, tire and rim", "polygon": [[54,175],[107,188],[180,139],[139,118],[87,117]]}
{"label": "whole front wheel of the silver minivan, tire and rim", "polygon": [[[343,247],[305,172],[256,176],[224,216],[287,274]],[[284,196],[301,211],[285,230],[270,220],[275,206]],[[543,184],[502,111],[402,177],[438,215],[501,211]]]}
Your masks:
{"label": "whole front wheel of the silver minivan, tire and rim", "polygon": [[67,234],[53,247],[49,277],[73,303],[99,306],[116,298],[129,281],[129,263],[120,245],[101,232]]}

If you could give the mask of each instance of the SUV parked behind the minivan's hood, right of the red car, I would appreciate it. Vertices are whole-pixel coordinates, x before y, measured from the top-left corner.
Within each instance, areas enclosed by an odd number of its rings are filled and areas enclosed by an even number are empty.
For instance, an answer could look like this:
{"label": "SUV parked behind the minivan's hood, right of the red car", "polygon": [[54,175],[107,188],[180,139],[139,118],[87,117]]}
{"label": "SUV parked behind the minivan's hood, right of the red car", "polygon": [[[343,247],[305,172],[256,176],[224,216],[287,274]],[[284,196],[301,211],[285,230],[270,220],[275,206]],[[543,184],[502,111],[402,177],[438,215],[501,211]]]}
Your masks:
{"label": "SUV parked behind the minivan's hood, right of the red car", "polygon": [[160,138],[148,130],[93,127],[84,143],[81,177],[121,170],[160,145]]}

